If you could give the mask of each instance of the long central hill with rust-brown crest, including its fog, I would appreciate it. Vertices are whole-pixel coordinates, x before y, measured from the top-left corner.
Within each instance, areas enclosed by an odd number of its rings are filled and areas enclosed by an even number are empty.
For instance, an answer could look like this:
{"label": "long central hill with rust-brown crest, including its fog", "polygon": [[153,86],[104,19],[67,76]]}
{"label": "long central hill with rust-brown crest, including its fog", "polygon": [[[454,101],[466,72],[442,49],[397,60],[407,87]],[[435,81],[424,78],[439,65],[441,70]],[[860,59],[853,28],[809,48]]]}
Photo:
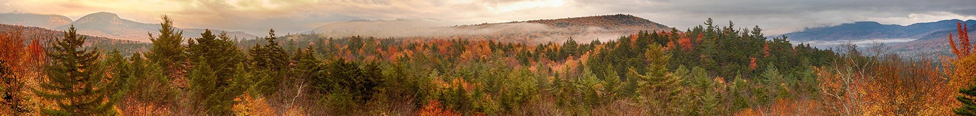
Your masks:
{"label": "long central hill with rust-brown crest, including its fog", "polygon": [[[594,15],[559,19],[482,23],[472,25],[429,27],[432,20],[394,20],[410,22],[397,28],[342,30],[342,26],[369,26],[393,21],[349,21],[323,25],[308,31],[320,36],[343,38],[372,36],[399,39],[464,39],[496,40],[499,42],[546,43],[573,38],[577,42],[610,40],[638,31],[671,31],[671,28],[630,14]],[[342,26],[338,26],[342,25]]]}

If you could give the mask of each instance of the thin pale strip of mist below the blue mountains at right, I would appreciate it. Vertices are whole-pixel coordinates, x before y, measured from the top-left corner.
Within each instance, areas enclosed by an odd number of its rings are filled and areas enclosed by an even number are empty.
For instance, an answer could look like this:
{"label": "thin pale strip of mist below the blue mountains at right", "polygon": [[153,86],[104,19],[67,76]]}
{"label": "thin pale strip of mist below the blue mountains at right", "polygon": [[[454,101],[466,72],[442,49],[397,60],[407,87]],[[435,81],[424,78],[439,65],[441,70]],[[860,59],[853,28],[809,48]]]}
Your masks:
{"label": "thin pale strip of mist below the blue mountains at right", "polygon": [[884,43],[886,45],[891,45],[894,43],[905,43],[905,42],[912,42],[915,40],[918,39],[867,39],[867,40],[837,40],[837,41],[807,41],[807,42],[791,41],[790,43],[793,44],[810,43],[811,46],[817,46],[820,48],[829,48],[829,47],[834,47],[835,45],[840,43],[854,43],[857,44],[857,46],[859,47],[863,47],[863,46],[871,45],[872,43]]}

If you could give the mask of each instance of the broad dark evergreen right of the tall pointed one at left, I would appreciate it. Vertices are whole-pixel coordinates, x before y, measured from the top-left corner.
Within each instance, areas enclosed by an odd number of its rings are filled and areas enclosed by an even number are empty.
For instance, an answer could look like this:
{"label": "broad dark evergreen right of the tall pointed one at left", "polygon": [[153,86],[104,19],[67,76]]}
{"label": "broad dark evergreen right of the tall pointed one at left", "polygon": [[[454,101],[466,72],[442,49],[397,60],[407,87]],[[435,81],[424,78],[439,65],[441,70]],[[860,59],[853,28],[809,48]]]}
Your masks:
{"label": "broad dark evergreen right of the tall pointed one at left", "polygon": [[[243,58],[237,44],[222,33],[220,39],[209,29],[200,34],[202,38],[188,41],[190,70],[186,77],[190,80],[190,90],[195,98],[203,102],[203,109],[210,115],[229,115],[233,99],[243,94],[247,73],[241,73],[240,59]],[[242,74],[244,76],[242,76]]]}

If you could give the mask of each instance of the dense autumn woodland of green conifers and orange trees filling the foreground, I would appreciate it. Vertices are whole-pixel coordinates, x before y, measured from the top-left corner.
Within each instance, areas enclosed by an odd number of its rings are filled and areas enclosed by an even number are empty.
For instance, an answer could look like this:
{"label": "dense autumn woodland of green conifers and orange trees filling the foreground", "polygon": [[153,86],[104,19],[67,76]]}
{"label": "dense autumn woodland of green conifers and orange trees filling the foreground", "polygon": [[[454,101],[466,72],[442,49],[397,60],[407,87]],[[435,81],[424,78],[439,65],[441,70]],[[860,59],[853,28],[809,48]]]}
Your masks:
{"label": "dense autumn woodland of green conifers and orange trees filling the foreground", "polygon": [[185,39],[163,20],[138,52],[86,45],[73,27],[47,43],[2,32],[0,115],[976,114],[965,33],[945,42],[956,56],[913,59],[883,44],[794,45],[711,18],[549,43],[274,30]]}

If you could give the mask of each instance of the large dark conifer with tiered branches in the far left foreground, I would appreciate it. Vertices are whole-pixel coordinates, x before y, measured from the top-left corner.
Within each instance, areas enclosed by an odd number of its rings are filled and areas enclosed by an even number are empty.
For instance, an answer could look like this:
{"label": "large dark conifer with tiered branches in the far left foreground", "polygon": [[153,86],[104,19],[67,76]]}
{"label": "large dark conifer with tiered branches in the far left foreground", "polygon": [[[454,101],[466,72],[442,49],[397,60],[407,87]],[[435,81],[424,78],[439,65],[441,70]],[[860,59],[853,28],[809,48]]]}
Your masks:
{"label": "large dark conifer with tiered branches in the far left foreground", "polygon": [[34,93],[58,104],[56,109],[42,108],[46,115],[115,115],[107,102],[106,85],[98,48],[84,49],[85,37],[79,37],[74,25],[64,32],[48,52],[51,64],[46,67],[48,82]]}

